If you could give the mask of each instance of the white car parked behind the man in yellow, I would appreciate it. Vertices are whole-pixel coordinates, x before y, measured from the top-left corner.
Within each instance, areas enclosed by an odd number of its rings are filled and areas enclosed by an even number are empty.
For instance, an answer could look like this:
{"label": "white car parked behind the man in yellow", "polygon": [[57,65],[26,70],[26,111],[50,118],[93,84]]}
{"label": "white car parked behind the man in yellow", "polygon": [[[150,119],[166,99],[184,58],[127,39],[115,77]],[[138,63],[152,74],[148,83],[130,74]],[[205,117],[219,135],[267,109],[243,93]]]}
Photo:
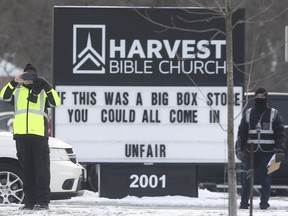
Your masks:
{"label": "white car parked behind the man in yellow", "polygon": [[[86,169],[76,160],[72,147],[49,137],[51,160],[51,199],[69,199],[83,195]],[[0,204],[21,203],[24,199],[23,171],[16,156],[11,132],[0,132]]]}

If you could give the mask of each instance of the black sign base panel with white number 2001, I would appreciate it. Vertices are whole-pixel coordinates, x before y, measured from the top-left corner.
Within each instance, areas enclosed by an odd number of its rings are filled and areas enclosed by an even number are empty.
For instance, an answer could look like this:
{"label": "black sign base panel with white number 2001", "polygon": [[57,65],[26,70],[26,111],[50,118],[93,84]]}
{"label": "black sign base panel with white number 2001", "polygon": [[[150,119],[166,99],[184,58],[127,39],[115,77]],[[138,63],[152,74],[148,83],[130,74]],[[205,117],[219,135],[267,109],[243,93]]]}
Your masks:
{"label": "black sign base panel with white number 2001", "polygon": [[198,197],[196,165],[192,164],[101,164],[100,197],[127,195]]}

